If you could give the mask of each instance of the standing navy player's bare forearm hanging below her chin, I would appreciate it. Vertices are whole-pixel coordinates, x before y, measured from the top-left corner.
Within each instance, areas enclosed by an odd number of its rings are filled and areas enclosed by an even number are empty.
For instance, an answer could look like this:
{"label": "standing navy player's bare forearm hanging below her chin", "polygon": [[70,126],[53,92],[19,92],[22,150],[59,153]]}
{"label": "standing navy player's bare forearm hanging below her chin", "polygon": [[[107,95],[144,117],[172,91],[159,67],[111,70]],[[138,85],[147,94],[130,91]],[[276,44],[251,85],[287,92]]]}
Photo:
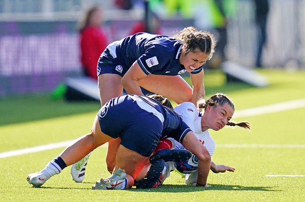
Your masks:
{"label": "standing navy player's bare forearm hanging below her chin", "polygon": [[203,97],[205,98],[206,90],[204,85],[204,70],[202,69],[197,74],[190,74],[190,79],[192,82],[192,103],[196,106],[197,101]]}

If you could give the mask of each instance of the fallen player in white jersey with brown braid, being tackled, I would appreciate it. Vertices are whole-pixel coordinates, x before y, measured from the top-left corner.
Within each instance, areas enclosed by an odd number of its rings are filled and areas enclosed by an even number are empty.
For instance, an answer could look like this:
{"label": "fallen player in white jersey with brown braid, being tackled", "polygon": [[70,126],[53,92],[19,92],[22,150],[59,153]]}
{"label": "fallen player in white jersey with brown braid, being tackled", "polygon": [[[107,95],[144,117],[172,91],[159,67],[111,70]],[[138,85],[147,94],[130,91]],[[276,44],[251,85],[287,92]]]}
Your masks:
{"label": "fallen player in white jersey with brown braid, being tackled", "polygon": [[[221,93],[213,95],[207,101],[204,99],[199,100],[197,103],[197,108],[194,106],[194,104],[186,102],[175,107],[174,111],[182,117],[182,120],[195,133],[198,141],[200,141],[207,148],[211,158],[215,150],[215,141],[210,135],[208,129],[218,131],[226,125],[237,125],[242,128],[250,129],[248,122],[230,122],[230,119],[234,114],[234,104],[225,94]],[[157,149],[159,150],[184,148],[182,144],[172,138],[161,140],[159,144],[162,145],[157,146]],[[150,158],[150,160],[154,159]],[[170,172],[174,171],[175,169],[185,175],[185,184],[196,184],[198,174],[197,167],[198,159],[195,155],[192,155],[192,157],[185,162],[166,162],[163,172],[158,179],[149,179],[149,177],[146,177],[145,179],[139,181],[137,187],[160,187],[164,180],[170,176]],[[226,171],[234,172],[235,168],[225,165],[216,165],[211,159],[211,170],[214,173],[223,173]]]}

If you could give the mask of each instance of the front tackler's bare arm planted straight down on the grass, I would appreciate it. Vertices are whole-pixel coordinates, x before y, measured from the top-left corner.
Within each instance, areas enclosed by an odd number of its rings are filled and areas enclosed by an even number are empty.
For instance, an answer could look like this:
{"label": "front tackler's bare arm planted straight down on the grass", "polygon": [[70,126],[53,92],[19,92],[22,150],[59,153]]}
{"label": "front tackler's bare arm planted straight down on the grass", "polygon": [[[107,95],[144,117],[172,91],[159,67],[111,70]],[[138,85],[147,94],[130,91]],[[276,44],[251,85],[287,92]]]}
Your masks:
{"label": "front tackler's bare arm planted straight down on the grass", "polygon": [[198,158],[198,176],[196,186],[209,186],[207,185],[207,180],[211,167],[211,156],[208,149],[198,141],[192,131],[189,131],[185,135],[182,144]]}

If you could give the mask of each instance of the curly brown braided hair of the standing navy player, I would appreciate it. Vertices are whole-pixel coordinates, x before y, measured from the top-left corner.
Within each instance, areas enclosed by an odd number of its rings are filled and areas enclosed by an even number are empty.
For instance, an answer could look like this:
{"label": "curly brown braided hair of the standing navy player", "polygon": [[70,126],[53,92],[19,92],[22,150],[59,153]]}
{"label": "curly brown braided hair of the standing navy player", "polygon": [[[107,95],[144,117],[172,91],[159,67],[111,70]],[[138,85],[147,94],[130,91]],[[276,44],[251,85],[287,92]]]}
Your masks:
{"label": "curly brown braided hair of the standing navy player", "polygon": [[175,37],[181,39],[181,44],[185,45],[184,54],[199,49],[200,52],[209,55],[207,60],[210,60],[215,52],[216,40],[209,31],[198,31],[194,27],[186,27],[180,31],[180,35]]}

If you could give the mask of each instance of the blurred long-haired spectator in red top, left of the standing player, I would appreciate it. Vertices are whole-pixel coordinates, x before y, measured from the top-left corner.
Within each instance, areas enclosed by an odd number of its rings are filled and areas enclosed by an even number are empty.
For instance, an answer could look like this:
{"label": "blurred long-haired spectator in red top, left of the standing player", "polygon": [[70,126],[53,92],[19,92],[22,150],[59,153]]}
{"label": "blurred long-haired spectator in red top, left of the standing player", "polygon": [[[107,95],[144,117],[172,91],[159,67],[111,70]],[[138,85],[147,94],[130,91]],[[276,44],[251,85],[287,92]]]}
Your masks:
{"label": "blurred long-haired spectator in red top, left of the standing player", "polygon": [[78,25],[83,72],[95,80],[97,80],[96,64],[98,58],[108,45],[106,35],[101,29],[102,21],[101,9],[98,6],[93,6],[87,10]]}

